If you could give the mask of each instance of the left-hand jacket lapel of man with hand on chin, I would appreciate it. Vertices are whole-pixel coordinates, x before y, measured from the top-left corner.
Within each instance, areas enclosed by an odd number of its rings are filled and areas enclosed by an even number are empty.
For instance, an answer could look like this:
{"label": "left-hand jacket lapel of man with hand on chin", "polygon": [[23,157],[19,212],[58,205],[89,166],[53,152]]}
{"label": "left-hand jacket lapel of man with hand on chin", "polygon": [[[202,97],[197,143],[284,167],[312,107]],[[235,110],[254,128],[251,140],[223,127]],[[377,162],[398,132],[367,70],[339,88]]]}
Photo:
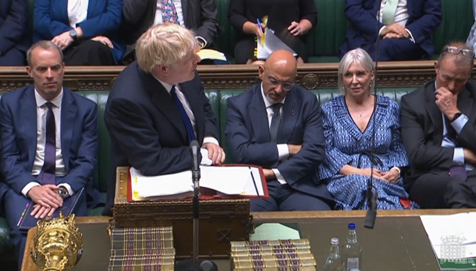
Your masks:
{"label": "left-hand jacket lapel of man with hand on chin", "polygon": [[433,126],[429,126],[427,133],[433,133],[434,142],[441,145],[443,140],[443,116],[435,104],[435,81],[431,81],[425,87],[426,112],[430,116]]}

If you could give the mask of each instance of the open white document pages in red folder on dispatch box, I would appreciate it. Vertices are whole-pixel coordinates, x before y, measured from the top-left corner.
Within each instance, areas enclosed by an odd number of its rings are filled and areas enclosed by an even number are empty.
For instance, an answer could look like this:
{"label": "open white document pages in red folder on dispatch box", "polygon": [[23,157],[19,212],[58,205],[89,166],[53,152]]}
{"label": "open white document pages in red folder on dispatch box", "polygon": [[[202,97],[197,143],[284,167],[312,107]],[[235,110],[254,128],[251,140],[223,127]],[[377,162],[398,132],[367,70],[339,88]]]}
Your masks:
{"label": "open white document pages in red folder on dispatch box", "polygon": [[[193,196],[192,171],[144,176],[129,169],[131,200],[183,199]],[[200,188],[215,191],[215,197],[268,197],[261,167],[252,165],[200,165]]]}

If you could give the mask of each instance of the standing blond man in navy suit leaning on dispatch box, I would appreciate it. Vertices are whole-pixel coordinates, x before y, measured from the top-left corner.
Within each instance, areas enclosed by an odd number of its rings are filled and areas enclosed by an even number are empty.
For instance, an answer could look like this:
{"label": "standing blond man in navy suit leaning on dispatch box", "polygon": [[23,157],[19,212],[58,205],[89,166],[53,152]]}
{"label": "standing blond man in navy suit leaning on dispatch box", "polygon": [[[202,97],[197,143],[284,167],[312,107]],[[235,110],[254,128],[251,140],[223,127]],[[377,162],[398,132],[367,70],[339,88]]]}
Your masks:
{"label": "standing blond man in navy suit leaning on dispatch box", "polygon": [[104,215],[111,215],[116,167],[132,166],[146,176],[190,169],[190,142],[201,147],[202,164],[221,164],[217,119],[205,96],[193,33],[159,24],[137,41],[137,60],[117,77],[104,120],[111,138],[111,165]]}

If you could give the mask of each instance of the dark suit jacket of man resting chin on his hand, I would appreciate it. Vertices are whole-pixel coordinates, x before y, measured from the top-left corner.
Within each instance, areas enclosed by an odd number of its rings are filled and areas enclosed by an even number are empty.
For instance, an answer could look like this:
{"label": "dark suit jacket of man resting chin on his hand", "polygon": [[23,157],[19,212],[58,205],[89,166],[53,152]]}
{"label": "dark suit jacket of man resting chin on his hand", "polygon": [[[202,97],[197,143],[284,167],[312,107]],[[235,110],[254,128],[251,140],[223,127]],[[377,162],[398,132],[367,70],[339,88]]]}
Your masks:
{"label": "dark suit jacket of man resting chin on his hand", "polygon": [[[400,102],[402,138],[410,162],[410,170],[404,178],[406,188],[427,172],[447,176],[453,165],[454,148],[441,146],[443,117],[435,104],[434,92],[435,81],[432,80],[403,96]],[[458,96],[457,106],[469,119],[457,137],[458,146],[476,153],[475,84],[466,84]]]}

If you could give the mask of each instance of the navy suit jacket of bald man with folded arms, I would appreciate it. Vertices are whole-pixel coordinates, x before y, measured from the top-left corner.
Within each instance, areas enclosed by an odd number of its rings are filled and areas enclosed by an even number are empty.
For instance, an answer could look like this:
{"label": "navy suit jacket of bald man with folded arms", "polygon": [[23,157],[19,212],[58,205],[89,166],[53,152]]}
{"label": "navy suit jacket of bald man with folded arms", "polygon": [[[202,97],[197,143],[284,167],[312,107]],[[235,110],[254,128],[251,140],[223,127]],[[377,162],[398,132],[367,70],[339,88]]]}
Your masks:
{"label": "navy suit jacket of bald man with folded arms", "polygon": [[[325,138],[316,96],[296,85],[288,92],[282,112],[278,142],[271,142],[261,85],[228,98],[225,133],[235,162],[277,168],[292,188],[332,200],[317,176],[317,168],[324,161]],[[277,144],[296,144],[302,148],[297,155],[280,163]]]}

